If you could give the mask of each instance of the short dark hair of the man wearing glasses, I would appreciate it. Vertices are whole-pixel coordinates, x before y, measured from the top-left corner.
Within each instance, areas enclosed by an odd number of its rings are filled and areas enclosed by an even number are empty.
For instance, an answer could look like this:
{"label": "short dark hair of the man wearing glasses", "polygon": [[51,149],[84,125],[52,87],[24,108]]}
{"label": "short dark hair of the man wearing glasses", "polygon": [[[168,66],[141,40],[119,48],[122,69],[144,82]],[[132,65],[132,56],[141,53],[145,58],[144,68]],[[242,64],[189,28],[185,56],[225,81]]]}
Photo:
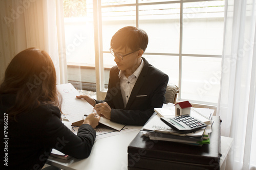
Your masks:
{"label": "short dark hair of the man wearing glasses", "polygon": [[128,26],[118,30],[112,37],[110,46],[112,48],[129,47],[131,50],[146,50],[148,37],[145,31],[136,27]]}

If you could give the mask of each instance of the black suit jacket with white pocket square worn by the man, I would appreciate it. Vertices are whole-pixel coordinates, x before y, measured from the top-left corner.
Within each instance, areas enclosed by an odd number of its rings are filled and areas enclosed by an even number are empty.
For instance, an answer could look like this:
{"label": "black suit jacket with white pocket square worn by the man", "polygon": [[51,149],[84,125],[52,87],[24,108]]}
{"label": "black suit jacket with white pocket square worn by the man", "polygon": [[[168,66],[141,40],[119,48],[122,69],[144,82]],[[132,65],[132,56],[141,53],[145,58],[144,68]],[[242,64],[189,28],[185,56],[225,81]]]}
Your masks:
{"label": "black suit jacket with white pocket square worn by the man", "polygon": [[144,66],[138,77],[129,101],[124,108],[120,90],[119,69],[113,66],[110,70],[109,89],[103,101],[111,109],[111,120],[126,125],[144,125],[154,113],[154,108],[165,103],[165,92],[168,76],[155,68],[143,58]]}

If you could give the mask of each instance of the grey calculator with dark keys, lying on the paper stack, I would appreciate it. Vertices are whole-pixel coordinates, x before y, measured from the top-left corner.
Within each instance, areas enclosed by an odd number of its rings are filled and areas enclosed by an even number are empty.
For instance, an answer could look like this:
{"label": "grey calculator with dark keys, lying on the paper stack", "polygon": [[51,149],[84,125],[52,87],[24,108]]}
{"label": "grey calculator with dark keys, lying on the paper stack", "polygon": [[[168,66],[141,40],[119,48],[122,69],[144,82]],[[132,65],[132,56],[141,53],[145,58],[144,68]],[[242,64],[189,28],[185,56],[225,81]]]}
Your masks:
{"label": "grey calculator with dark keys, lying on the paper stack", "polygon": [[194,132],[207,126],[205,123],[195,117],[191,117],[189,114],[173,118],[161,117],[161,120],[169,127],[181,133]]}

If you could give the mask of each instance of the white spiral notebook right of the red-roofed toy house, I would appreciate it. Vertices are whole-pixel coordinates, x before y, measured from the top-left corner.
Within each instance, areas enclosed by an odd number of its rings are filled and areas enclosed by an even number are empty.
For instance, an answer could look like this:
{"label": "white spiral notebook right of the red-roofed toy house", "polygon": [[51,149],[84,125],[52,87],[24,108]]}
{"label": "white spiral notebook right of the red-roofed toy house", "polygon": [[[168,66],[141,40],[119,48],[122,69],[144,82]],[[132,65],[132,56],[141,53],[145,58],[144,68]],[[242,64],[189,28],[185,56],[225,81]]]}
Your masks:
{"label": "white spiral notebook right of the red-roofed toy house", "polygon": [[204,122],[206,125],[211,124],[211,117],[212,113],[210,109],[205,108],[192,108],[190,110],[190,115],[193,117],[198,118],[202,122]]}

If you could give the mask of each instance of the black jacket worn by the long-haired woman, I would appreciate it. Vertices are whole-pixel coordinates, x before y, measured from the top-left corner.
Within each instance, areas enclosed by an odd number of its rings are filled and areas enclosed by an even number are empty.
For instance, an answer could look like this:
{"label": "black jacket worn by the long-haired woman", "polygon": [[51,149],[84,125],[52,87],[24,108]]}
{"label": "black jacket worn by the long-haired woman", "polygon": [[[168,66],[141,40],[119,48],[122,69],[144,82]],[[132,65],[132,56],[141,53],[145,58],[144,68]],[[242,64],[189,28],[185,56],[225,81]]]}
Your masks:
{"label": "black jacket worn by the long-haired woman", "polygon": [[[9,138],[8,151],[5,152],[8,153],[8,166],[5,168],[40,169],[47,162],[52,148],[76,158],[90,155],[96,137],[96,132],[90,125],[81,125],[75,135],[62,124],[59,109],[51,105],[19,113],[18,122],[15,122],[7,116],[15,99],[14,94],[0,94],[0,119],[8,124]],[[3,122],[0,125],[3,132]],[[6,137],[2,133],[1,139],[4,138]],[[2,148],[2,158],[5,153]],[[2,161],[3,166],[4,163]]]}

